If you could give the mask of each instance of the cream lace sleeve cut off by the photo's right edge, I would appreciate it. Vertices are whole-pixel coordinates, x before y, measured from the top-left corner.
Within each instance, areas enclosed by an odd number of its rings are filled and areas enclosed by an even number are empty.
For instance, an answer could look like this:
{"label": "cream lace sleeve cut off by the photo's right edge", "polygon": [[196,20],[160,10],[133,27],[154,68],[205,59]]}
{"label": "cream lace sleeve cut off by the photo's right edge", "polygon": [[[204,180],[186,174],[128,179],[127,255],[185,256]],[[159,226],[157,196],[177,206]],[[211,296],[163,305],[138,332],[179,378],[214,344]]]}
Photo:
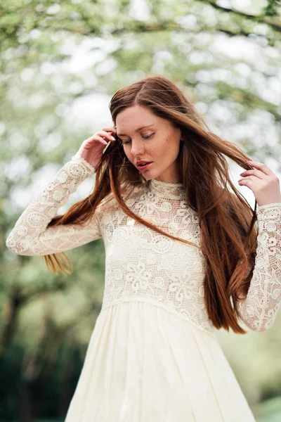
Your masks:
{"label": "cream lace sleeve cut off by the photo's right edge", "polygon": [[273,326],[281,302],[281,203],[257,210],[256,260],[247,297],[237,303],[240,319],[254,331]]}

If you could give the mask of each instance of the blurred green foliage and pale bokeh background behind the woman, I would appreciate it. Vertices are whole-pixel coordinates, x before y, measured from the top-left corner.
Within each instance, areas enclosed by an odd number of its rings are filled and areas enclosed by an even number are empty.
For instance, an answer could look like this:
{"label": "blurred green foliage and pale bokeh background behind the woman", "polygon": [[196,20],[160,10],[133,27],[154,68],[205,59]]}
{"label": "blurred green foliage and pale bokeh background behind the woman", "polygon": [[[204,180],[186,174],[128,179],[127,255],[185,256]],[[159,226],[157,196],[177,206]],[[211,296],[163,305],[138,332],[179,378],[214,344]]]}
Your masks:
{"label": "blurred green foliage and pale bokeh background behind the woman", "polygon": [[[103,241],[67,252],[71,275],[15,255],[9,231],[108,104],[150,74],[172,79],[210,129],[281,172],[281,3],[1,0],[0,421],[63,421],[103,300]],[[229,161],[235,186],[241,168]],[[67,204],[88,196],[86,179]],[[265,332],[218,331],[258,422],[281,421],[281,312]],[[156,421],[155,421],[156,422]],[[245,421],[247,422],[247,421]]]}

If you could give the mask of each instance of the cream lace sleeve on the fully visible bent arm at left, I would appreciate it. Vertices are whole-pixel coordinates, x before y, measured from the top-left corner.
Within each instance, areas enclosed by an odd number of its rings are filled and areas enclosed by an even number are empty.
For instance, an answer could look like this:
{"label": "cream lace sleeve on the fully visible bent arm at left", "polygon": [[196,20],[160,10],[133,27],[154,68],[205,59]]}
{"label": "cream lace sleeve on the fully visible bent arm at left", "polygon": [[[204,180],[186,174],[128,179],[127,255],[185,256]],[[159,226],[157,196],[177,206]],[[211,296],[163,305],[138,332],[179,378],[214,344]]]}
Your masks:
{"label": "cream lace sleeve on the fully visible bent arm at left", "polygon": [[78,153],[74,155],[22,212],[6,240],[7,248],[18,255],[48,255],[100,238],[102,235],[95,215],[85,224],[47,227],[70,193],[95,171]]}

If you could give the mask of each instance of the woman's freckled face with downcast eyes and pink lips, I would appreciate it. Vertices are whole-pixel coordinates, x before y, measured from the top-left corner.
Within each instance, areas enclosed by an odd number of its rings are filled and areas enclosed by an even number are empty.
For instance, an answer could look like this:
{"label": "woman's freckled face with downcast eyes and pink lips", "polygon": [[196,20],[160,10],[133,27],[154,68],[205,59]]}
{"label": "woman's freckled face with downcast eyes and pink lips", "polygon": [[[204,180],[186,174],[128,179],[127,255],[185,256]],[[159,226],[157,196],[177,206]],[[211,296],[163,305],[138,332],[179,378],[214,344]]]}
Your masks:
{"label": "woman's freckled face with downcast eyes and pink lips", "polygon": [[[140,129],[142,128],[142,129]],[[116,117],[117,136],[124,153],[145,179],[179,182],[178,152],[181,130],[143,106],[122,110]],[[139,166],[139,161],[150,162]]]}

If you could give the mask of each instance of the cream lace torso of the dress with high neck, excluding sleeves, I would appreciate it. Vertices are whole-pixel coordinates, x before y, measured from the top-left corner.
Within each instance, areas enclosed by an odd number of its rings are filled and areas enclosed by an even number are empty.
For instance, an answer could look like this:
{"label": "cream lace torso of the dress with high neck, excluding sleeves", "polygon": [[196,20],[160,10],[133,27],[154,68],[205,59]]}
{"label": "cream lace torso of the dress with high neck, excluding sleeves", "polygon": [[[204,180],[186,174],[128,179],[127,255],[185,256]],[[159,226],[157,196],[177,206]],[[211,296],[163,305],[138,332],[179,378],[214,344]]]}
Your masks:
{"label": "cream lace torso of the dress with high neck, excluding sleeves", "polygon": [[[173,186],[174,185],[174,186]],[[181,184],[152,180],[126,201],[133,212],[169,234],[200,245],[197,214],[186,206]],[[200,250],[157,234],[116,209],[100,215],[106,248],[103,309],[120,301],[161,306],[212,331],[204,307],[204,259]]]}

